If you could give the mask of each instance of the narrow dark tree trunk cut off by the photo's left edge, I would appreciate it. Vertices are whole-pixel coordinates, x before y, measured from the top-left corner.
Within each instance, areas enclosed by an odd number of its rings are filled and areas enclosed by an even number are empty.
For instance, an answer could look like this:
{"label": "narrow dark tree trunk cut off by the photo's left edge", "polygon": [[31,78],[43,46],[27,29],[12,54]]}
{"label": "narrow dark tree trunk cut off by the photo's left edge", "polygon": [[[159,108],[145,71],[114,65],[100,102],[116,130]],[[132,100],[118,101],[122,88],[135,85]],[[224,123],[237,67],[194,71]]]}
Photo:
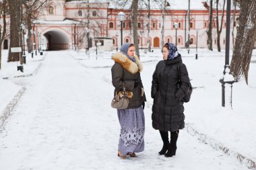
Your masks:
{"label": "narrow dark tree trunk cut off by the photo's left edge", "polygon": [[5,40],[6,32],[7,32],[7,22],[6,22],[6,14],[8,10],[8,1],[3,0],[0,2],[0,19],[3,19],[3,25],[0,24],[0,70],[1,70],[1,60],[2,60],[2,44],[3,40]]}

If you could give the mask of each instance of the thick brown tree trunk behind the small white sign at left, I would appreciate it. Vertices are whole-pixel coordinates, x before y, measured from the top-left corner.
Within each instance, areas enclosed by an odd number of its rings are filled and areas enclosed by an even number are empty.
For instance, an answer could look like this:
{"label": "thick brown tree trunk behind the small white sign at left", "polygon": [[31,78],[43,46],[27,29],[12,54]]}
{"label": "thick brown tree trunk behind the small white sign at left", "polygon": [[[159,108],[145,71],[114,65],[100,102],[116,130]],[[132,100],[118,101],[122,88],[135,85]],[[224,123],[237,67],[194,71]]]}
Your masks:
{"label": "thick brown tree trunk behind the small white sign at left", "polygon": [[[20,44],[20,25],[21,25],[21,1],[9,0],[9,15],[10,15],[10,44],[8,62],[19,61],[20,54],[11,52],[11,47],[21,47]],[[22,64],[22,63],[21,63]]]}

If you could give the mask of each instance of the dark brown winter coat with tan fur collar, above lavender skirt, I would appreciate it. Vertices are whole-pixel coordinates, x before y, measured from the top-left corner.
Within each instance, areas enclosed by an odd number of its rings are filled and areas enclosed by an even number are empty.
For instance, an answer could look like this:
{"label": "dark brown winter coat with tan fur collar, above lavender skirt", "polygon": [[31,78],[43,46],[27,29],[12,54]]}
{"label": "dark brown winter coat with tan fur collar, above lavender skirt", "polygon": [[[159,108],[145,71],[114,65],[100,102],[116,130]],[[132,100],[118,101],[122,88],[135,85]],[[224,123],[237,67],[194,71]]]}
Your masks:
{"label": "dark brown winter coat with tan fur collar, above lavender skirt", "polygon": [[[112,83],[115,87],[114,95],[125,87],[128,97],[129,105],[127,109],[139,108],[143,101],[146,101],[146,96],[143,91],[143,84],[141,82],[140,72],[143,67],[139,58],[135,56],[135,62],[129,60],[125,54],[117,52],[113,56],[115,64],[113,65]],[[140,81],[141,84],[134,87],[135,81]]]}

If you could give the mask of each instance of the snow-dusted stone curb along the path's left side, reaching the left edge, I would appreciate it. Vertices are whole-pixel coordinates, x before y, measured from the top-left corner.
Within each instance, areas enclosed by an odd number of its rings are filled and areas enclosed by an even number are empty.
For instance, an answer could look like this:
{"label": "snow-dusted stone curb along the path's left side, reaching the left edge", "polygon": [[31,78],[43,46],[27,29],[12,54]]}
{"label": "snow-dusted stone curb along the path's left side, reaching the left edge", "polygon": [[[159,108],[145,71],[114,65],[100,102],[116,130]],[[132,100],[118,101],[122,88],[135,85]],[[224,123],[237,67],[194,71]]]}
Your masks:
{"label": "snow-dusted stone curb along the path's left side, reaching the left edge", "polygon": [[0,128],[1,128],[1,126],[3,126],[3,123],[8,118],[8,116],[11,114],[13,108],[15,107],[15,105],[20,100],[20,97],[22,97],[24,91],[26,91],[26,87],[22,87],[20,89],[20,91],[18,91],[18,93],[13,97],[13,99],[11,99],[9,104],[6,106],[5,110],[3,110],[3,112],[1,113],[1,116],[0,116]]}

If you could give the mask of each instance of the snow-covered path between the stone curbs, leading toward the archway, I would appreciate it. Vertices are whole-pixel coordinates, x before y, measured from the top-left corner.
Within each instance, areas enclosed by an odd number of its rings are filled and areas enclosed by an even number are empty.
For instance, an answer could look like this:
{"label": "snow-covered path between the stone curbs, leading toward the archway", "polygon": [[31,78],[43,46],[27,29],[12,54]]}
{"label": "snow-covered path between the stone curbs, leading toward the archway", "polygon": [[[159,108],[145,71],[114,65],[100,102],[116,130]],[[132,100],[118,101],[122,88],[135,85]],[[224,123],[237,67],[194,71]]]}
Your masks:
{"label": "snow-covered path between the stone curbs, leading toward the archway", "polygon": [[[175,157],[158,156],[162,142],[151,126],[150,107],[145,151],[121,160],[109,75],[109,68],[79,65],[69,52],[48,52],[37,75],[17,81],[27,90],[1,128],[0,169],[247,169],[185,130]],[[143,83],[149,87],[151,82]]]}

